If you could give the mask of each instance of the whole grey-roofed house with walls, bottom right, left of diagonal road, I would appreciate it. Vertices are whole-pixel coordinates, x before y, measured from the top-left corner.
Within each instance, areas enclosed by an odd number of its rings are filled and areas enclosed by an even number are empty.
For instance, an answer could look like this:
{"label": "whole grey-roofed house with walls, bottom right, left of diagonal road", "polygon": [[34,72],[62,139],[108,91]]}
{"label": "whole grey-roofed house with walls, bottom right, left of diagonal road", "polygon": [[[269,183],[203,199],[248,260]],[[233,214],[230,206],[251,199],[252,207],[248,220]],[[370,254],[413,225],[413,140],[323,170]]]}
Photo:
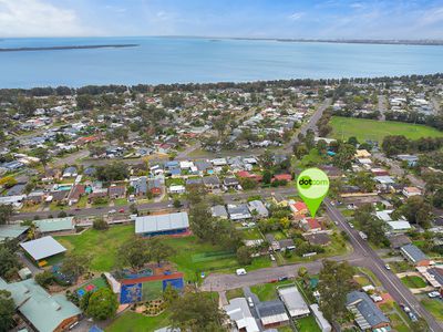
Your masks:
{"label": "whole grey-roofed house with walls, bottom right, left of diagonal road", "polygon": [[348,293],[347,309],[354,314],[354,320],[362,331],[381,331],[390,326],[389,319],[365,292]]}

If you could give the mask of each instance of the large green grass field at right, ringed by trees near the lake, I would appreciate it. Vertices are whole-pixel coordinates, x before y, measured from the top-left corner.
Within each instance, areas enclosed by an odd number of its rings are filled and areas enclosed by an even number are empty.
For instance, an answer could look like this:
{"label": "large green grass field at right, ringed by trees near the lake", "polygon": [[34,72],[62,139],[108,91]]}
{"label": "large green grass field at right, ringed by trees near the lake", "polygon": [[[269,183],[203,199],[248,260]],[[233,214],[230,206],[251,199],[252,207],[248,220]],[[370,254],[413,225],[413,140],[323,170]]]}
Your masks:
{"label": "large green grass field at right, ringed by trees near the lake", "polygon": [[393,121],[375,121],[354,117],[332,116],[330,121],[333,138],[356,136],[360,142],[365,139],[382,142],[387,135],[404,135],[411,139],[443,136],[443,132],[425,125],[414,125]]}

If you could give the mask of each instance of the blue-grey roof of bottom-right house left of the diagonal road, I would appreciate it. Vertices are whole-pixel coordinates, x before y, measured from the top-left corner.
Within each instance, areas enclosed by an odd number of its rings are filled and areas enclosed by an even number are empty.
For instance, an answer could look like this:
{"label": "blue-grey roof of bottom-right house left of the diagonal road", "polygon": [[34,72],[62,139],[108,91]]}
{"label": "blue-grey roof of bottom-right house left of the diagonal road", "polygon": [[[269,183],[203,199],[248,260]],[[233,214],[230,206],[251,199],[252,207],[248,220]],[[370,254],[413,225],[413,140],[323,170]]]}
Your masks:
{"label": "blue-grey roof of bottom-right house left of the diagonal road", "polygon": [[347,295],[347,307],[353,305],[371,325],[375,326],[380,323],[389,323],[389,319],[374,304],[367,293],[361,291],[352,291]]}

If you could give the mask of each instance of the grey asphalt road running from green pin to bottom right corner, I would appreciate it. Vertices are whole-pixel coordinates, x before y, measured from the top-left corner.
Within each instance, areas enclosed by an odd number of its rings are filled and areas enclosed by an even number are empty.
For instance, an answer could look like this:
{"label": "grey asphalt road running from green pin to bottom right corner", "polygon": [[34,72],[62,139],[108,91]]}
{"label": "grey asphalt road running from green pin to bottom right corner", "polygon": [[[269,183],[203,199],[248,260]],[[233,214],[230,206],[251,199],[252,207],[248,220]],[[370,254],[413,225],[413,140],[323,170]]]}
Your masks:
{"label": "grey asphalt road running from green pin to bottom right corner", "polygon": [[406,288],[393,272],[385,269],[382,259],[374,250],[372,250],[368,242],[358,235],[358,231],[349,226],[343,215],[331,205],[331,201],[328,198],[324,199],[324,205],[329,217],[332,220],[338,221],[340,228],[348,234],[350,242],[354,248],[354,253],[363,256],[364,259],[360,261],[359,264],[370,269],[375,274],[383,284],[383,288],[391,294],[396,303],[406,304],[413,311],[419,313],[419,315],[424,318],[431,331],[443,331],[443,324],[439,323],[426,310],[424,310],[409,288]]}

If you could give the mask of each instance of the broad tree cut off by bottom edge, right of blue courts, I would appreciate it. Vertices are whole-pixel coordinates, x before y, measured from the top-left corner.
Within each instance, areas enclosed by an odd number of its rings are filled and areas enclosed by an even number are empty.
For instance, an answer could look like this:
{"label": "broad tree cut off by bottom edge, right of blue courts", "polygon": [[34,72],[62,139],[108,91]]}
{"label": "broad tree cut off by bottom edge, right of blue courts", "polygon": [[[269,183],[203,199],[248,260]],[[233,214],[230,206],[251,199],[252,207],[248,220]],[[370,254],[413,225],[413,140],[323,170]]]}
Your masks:
{"label": "broad tree cut off by bottom edge, right of blue courts", "polygon": [[171,309],[172,328],[190,332],[224,331],[222,324],[226,313],[218,308],[217,301],[203,293],[185,293],[173,302]]}

